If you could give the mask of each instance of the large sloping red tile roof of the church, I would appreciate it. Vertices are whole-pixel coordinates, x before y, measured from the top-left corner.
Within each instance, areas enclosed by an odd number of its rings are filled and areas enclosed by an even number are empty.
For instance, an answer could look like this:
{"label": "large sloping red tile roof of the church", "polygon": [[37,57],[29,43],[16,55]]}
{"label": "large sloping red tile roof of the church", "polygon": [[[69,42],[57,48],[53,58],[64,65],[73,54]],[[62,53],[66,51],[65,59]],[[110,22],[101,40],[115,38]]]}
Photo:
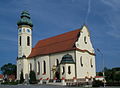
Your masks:
{"label": "large sloping red tile roof of the church", "polygon": [[[28,58],[77,49],[74,44],[78,39],[79,33],[80,29],[77,29],[51,38],[40,40],[32,49]],[[87,50],[83,51],[86,52]],[[90,53],[89,51],[87,52]]]}

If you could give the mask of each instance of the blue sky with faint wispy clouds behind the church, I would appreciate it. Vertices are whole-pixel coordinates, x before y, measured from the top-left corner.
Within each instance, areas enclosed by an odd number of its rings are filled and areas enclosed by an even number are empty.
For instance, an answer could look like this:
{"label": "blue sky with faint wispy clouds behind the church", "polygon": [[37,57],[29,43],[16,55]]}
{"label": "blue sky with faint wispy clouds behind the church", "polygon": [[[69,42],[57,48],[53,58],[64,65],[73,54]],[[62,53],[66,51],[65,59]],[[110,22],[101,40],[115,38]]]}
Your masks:
{"label": "blue sky with faint wispy clouds behind the church", "polygon": [[86,24],[97,71],[103,60],[107,68],[120,67],[120,0],[0,0],[0,67],[16,64],[17,21],[23,10],[29,11],[34,25],[33,46]]}

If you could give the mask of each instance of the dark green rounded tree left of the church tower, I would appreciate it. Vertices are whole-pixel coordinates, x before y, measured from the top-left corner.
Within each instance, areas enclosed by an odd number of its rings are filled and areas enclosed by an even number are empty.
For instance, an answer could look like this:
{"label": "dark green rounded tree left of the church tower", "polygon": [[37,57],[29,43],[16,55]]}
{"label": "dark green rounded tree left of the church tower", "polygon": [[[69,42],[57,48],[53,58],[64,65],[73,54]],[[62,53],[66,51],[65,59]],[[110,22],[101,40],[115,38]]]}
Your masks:
{"label": "dark green rounded tree left of the church tower", "polygon": [[5,64],[1,67],[3,75],[15,75],[17,72],[17,66],[11,63]]}

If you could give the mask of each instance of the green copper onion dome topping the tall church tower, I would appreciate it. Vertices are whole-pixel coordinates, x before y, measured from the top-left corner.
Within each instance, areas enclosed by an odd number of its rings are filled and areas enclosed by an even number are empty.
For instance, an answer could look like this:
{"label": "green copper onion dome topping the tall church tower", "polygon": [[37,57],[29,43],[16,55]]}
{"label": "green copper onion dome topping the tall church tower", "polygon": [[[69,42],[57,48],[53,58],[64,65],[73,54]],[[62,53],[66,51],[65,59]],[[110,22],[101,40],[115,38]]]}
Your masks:
{"label": "green copper onion dome topping the tall church tower", "polygon": [[17,25],[29,25],[30,27],[33,27],[32,21],[30,19],[30,14],[28,11],[23,11],[21,13],[21,19],[17,22]]}

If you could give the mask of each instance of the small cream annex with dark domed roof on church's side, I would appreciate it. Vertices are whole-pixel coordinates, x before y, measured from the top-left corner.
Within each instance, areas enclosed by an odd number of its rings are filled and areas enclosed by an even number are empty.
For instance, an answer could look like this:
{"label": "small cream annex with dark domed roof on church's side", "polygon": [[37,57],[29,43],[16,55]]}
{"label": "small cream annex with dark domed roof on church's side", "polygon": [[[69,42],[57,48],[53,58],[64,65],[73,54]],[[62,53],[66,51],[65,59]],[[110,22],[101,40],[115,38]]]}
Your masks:
{"label": "small cream annex with dark domed roof on church's side", "polygon": [[65,79],[75,77],[75,62],[70,54],[66,54],[62,57],[60,63],[60,77]]}

